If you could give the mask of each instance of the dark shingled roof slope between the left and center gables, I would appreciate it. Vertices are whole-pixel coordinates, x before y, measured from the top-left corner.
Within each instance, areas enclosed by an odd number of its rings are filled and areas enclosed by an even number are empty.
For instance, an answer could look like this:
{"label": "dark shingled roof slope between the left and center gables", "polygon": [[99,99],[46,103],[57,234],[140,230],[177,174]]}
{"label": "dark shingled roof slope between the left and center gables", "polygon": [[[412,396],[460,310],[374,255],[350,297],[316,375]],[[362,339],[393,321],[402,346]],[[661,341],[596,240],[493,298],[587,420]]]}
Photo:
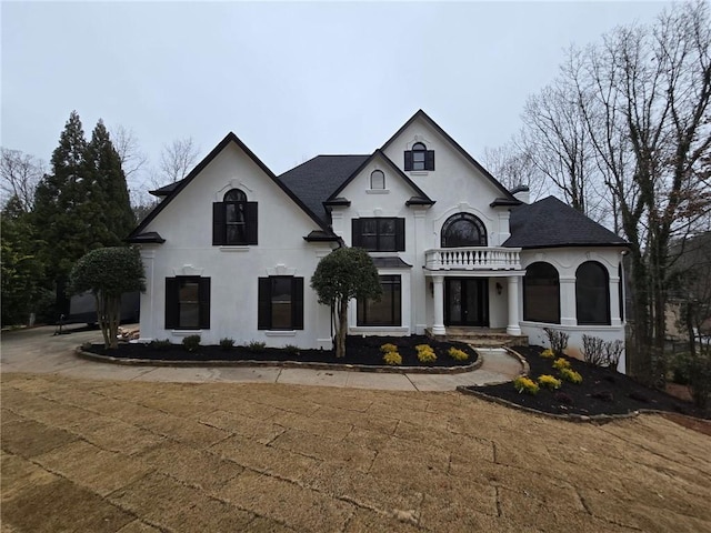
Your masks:
{"label": "dark shingled roof slope between the left and center gables", "polygon": [[329,223],[323,202],[370,155],[317,155],[279,177],[279,180],[326,224]]}

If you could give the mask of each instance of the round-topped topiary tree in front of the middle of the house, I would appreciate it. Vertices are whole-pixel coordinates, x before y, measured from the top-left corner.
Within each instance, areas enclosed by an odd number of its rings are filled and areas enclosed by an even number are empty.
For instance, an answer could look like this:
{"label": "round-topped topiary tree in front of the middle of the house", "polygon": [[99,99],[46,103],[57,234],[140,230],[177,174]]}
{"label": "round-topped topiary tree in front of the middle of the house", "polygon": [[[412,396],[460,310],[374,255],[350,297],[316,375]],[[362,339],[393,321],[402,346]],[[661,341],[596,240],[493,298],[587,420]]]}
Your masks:
{"label": "round-topped topiary tree in front of the middle of the house", "polygon": [[331,306],[336,333],[336,356],[346,355],[348,302],[356,299],[380,299],[382,289],[378,269],[368,252],[360,248],[339,248],[321,261],[311,278],[319,303]]}

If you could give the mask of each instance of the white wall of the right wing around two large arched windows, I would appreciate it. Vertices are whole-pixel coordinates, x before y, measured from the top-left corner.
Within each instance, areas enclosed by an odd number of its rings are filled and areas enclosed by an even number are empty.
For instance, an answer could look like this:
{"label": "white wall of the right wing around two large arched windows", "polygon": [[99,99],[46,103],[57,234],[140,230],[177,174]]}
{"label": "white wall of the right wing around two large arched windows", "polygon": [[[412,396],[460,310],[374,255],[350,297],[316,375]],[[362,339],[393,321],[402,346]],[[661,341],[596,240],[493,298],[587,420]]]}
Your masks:
{"label": "white wall of the right wing around two large arched windows", "polygon": [[[564,331],[570,335],[568,350],[570,356],[582,359],[582,335],[598,336],[604,341],[620,340],[624,342],[624,322],[620,316],[619,293],[620,284],[619,264],[622,262],[622,249],[600,248],[600,249],[548,249],[548,250],[524,250],[521,252],[521,265],[525,269],[531,263],[544,261],[558,270],[560,280],[560,323],[548,324],[542,322],[530,322],[521,320],[521,331],[529,335],[531,344],[548,346],[548,338],[544,328]],[[609,276],[610,290],[610,325],[578,325],[575,311],[575,271],[585,261],[597,261],[602,264]],[[519,311],[523,316],[523,285],[519,288]],[[619,372],[624,372],[625,353],[622,353]]]}

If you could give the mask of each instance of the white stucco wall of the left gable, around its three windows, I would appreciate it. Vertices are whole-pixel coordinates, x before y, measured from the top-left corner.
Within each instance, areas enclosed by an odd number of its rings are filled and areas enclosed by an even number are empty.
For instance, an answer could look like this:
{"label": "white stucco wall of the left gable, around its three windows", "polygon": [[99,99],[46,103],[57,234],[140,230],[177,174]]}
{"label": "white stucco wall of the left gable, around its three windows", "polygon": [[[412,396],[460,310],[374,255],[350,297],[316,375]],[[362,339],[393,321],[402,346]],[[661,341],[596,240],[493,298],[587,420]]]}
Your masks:
{"label": "white stucco wall of the left gable, around its three windows", "polygon": [[[212,203],[233,188],[259,202],[258,244],[212,245]],[[222,338],[236,343],[331,348],[330,313],[318,304],[309,281],[327,243],[303,240],[317,224],[236,144],[229,144],[178,194],[146,231],[157,231],[163,244],[142,247],[148,288],[141,299],[141,336],[181,342],[200,334],[206,344]],[[211,279],[210,329],[166,329],[166,278],[200,275]],[[258,330],[258,278],[294,275],[304,279],[303,330]]]}

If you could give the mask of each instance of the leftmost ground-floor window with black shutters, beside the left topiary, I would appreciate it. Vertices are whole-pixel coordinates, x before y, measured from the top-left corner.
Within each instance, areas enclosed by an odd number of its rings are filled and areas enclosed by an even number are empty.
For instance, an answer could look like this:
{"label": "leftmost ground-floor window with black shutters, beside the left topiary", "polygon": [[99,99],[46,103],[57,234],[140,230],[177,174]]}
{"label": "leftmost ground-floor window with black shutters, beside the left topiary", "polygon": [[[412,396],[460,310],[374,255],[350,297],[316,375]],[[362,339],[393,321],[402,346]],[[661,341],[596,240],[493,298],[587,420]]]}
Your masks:
{"label": "leftmost ground-floor window with black shutters, beside the left topiary", "polygon": [[166,278],[166,329],[210,329],[210,278]]}

